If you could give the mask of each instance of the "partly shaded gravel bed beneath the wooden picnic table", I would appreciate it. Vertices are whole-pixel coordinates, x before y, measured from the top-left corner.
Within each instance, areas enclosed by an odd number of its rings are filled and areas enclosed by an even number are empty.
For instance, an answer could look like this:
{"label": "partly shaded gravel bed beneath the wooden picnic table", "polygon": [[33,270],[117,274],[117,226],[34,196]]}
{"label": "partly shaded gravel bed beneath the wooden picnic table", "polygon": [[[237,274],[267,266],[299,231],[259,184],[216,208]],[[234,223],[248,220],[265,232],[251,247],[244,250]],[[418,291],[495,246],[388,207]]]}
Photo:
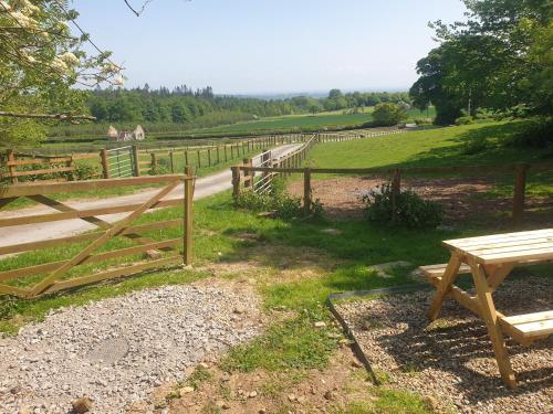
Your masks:
{"label": "partly shaded gravel bed beneath the wooden picnic table", "polygon": [[[508,340],[519,388],[499,375],[486,326],[448,300],[440,319],[428,325],[430,291],[342,301],[337,310],[355,332],[388,386],[425,395],[437,412],[553,413],[553,338],[530,348]],[[553,307],[552,279],[528,277],[503,284],[494,294],[508,315]],[[507,311],[509,310],[509,311]]]}

